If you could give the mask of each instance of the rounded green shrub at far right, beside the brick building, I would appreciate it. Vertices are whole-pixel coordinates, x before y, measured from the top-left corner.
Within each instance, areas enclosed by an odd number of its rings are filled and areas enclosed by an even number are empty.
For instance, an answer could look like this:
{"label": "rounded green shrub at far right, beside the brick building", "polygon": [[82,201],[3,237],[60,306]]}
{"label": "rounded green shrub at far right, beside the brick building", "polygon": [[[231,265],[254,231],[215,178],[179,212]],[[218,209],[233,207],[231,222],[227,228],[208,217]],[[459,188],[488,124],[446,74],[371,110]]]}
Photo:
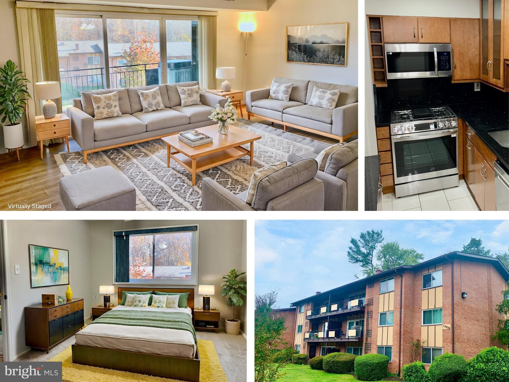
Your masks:
{"label": "rounded green shrub at far right, beside the brick building", "polygon": [[468,362],[465,382],[507,382],[508,376],[509,351],[492,346]]}

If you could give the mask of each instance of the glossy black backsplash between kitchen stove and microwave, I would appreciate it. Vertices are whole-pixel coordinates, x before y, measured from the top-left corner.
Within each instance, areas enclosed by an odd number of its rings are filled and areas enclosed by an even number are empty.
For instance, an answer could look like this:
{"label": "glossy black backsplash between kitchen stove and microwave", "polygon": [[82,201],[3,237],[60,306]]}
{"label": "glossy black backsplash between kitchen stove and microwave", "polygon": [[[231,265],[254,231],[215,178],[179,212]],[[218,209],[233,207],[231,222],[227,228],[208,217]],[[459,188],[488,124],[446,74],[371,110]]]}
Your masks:
{"label": "glossy black backsplash between kitchen stove and microwave", "polygon": [[375,88],[375,119],[386,115],[391,107],[410,105],[453,105],[490,102],[507,108],[509,93],[480,84],[474,91],[473,83],[451,83],[450,77],[389,79],[386,88]]}

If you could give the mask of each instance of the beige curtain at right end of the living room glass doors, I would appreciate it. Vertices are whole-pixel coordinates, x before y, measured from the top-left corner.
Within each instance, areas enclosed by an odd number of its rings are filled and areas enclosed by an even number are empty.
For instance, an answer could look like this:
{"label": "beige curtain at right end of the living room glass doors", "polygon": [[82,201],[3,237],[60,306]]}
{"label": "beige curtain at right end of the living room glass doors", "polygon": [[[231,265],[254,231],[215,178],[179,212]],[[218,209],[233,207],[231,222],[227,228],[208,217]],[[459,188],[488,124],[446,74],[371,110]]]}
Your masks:
{"label": "beige curtain at right end of the living room glass doors", "polygon": [[216,88],[217,16],[198,16],[198,72],[200,87]]}

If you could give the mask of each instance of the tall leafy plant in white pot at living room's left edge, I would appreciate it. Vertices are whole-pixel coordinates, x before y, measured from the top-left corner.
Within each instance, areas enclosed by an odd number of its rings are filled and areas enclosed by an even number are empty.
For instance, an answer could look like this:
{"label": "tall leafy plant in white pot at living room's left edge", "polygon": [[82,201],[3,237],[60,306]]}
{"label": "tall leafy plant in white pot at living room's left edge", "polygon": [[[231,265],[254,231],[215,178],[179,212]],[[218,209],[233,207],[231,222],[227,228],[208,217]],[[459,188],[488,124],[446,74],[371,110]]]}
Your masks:
{"label": "tall leafy plant in white pot at living room's left edge", "polygon": [[[26,100],[32,98],[26,86],[30,81],[24,73],[17,70],[11,60],[0,67],[0,114],[3,114],[4,142],[6,149],[23,146],[23,128],[18,120],[24,113]],[[9,123],[5,123],[9,120]],[[19,159],[18,159],[19,160]]]}

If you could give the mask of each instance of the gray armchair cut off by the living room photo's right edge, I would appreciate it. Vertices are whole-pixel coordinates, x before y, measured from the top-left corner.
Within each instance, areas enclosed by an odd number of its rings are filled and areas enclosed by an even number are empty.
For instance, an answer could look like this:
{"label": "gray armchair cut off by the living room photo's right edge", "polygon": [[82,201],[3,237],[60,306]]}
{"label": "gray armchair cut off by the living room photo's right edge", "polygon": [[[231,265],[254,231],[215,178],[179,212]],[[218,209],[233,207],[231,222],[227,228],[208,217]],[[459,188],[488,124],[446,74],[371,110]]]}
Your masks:
{"label": "gray armchair cut off by the living room photo's right edge", "polygon": [[[327,160],[325,171],[318,171],[315,178],[324,183],[325,211],[357,211],[358,193],[358,141],[346,144],[334,152]],[[289,154],[288,163],[294,163],[305,158],[316,159],[318,154],[330,145],[317,142],[313,151],[302,154]]]}

